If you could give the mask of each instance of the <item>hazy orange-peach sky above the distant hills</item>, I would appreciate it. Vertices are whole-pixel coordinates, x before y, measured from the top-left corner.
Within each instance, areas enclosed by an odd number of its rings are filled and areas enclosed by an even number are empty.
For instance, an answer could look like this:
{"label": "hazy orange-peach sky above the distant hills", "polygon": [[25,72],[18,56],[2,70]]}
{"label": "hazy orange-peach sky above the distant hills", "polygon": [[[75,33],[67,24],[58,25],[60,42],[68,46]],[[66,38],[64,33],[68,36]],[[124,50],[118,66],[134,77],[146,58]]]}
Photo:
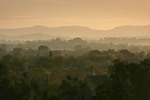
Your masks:
{"label": "hazy orange-peach sky above the distant hills", "polygon": [[0,0],[0,28],[150,24],[150,0]]}

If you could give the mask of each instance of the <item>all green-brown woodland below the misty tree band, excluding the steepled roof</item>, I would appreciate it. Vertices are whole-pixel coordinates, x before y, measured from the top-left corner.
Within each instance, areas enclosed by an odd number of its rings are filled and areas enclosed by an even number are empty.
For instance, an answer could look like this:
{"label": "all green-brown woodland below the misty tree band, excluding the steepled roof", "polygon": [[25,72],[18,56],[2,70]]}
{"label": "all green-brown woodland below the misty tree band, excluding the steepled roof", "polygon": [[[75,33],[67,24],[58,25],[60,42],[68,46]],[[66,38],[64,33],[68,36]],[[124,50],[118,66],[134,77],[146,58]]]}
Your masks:
{"label": "all green-brown woodland below the misty tree band, excluding the steepled roof", "polygon": [[[21,50],[0,59],[0,100],[150,99],[149,54],[93,50],[75,57],[40,46],[33,56]],[[108,77],[94,89],[85,80],[93,72]]]}

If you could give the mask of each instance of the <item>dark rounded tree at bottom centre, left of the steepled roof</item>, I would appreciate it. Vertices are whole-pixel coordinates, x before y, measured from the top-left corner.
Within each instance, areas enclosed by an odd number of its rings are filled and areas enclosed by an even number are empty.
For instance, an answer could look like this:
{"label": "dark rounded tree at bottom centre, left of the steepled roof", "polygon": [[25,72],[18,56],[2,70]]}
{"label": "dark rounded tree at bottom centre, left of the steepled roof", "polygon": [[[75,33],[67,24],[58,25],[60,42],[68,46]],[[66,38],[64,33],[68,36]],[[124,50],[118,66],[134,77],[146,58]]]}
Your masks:
{"label": "dark rounded tree at bottom centre, left of the steepled roof", "polygon": [[53,97],[56,100],[87,100],[91,92],[87,84],[78,78],[67,77],[63,80],[58,89],[58,94]]}

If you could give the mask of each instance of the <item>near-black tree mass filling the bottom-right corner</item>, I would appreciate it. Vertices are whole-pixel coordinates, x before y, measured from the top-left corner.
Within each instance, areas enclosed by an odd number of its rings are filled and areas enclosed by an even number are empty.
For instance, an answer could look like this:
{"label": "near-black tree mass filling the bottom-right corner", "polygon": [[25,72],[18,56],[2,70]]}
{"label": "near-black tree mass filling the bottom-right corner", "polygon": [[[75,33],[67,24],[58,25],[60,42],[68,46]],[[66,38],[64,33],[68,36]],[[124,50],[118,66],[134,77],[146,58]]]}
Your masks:
{"label": "near-black tree mass filling the bottom-right corner", "polygon": [[137,63],[115,61],[110,80],[96,88],[94,100],[149,100],[150,59]]}

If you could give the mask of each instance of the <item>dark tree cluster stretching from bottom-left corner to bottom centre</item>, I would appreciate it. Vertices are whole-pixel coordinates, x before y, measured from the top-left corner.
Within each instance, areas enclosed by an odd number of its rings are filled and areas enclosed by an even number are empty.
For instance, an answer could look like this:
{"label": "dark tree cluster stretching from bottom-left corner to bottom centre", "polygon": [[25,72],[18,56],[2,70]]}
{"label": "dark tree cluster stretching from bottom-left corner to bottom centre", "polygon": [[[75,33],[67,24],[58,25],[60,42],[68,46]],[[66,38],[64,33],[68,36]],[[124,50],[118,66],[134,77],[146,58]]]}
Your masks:
{"label": "dark tree cluster stretching from bottom-left corner to bottom centre", "polygon": [[91,93],[87,84],[78,78],[67,77],[60,85],[43,85],[29,78],[27,72],[17,77],[2,61],[0,68],[0,100],[86,100]]}

